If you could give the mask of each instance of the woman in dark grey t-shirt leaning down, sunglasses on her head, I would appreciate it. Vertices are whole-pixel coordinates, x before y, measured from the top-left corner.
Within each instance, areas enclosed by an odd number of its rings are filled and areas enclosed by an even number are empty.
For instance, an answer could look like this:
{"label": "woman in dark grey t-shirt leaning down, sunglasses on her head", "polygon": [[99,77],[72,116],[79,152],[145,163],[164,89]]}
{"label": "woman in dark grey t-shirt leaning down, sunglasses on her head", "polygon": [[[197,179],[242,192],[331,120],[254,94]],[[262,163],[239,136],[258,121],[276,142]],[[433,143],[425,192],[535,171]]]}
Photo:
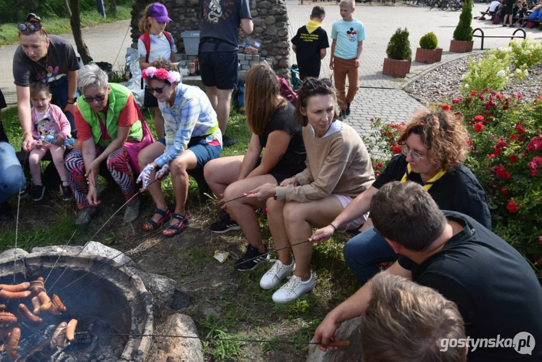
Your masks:
{"label": "woman in dark grey t-shirt leaning down, sunglasses on her head", "polygon": [[23,149],[30,150],[33,142],[30,83],[42,81],[49,85],[53,103],[66,113],[74,135],[73,111],[80,63],[72,45],[61,36],[48,35],[35,14],[29,14],[26,22],[19,24],[18,28],[21,44],[13,57],[13,76],[17,86],[18,116],[23,129]]}

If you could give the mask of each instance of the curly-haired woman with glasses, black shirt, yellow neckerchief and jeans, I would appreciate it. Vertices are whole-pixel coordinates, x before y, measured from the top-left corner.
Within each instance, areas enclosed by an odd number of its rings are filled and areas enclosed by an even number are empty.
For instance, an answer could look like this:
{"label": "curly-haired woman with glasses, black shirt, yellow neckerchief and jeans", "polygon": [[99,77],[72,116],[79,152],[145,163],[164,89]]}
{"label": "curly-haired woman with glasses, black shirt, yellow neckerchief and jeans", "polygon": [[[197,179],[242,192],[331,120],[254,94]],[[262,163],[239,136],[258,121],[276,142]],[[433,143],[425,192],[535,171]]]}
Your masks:
{"label": "curly-haired woman with glasses, black shirt, yellow neckerchief and jeans", "polygon": [[[372,196],[391,181],[419,183],[442,210],[469,215],[491,229],[486,193],[474,174],[462,164],[467,157],[466,138],[462,119],[450,112],[424,111],[415,115],[403,126],[397,141],[403,154],[393,157],[372,186],[330,225],[317,230],[314,241],[324,242],[336,229],[368,212]],[[343,254],[361,285],[377,274],[378,263],[397,259],[397,254],[374,227],[349,240]]]}

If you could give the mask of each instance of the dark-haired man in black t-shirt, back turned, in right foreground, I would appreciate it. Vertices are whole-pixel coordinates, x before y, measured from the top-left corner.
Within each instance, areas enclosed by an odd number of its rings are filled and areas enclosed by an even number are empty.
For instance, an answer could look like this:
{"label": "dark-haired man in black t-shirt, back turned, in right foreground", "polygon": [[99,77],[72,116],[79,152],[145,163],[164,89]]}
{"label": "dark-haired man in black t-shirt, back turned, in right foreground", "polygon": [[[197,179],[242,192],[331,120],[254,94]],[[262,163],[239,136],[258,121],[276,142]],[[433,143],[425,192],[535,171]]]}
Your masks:
{"label": "dark-haired man in black t-shirt, back turned, in right foreground", "polygon": [[[399,255],[384,272],[412,278],[457,304],[473,362],[542,360],[542,288],[511,245],[478,221],[441,211],[414,182],[390,182],[371,200],[375,228]],[[315,333],[327,344],[341,322],[365,312],[371,282],[333,309]],[[442,351],[457,342],[442,340]]]}

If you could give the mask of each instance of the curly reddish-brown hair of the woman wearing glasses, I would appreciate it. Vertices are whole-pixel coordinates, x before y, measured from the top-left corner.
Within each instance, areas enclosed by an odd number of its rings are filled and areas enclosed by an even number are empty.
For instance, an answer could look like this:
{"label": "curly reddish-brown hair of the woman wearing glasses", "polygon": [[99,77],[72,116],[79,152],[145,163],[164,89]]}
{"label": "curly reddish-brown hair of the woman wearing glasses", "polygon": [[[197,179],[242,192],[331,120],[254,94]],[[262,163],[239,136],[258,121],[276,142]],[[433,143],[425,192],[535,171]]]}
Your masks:
{"label": "curly reddish-brown hair of the woman wearing glasses", "polygon": [[450,172],[467,158],[467,130],[463,120],[446,111],[416,113],[412,120],[399,131],[397,144],[406,144],[411,134],[422,138],[429,159]]}

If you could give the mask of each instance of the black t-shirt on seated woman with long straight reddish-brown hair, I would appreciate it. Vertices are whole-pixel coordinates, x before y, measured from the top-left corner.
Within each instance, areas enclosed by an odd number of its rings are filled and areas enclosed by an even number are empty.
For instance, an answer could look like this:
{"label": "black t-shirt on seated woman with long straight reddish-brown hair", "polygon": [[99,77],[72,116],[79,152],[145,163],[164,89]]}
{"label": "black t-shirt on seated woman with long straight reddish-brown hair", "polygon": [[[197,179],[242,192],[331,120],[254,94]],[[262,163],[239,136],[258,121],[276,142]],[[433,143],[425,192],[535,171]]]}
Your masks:
{"label": "black t-shirt on seated woman with long straight reddish-brown hair", "polygon": [[292,176],[305,169],[305,158],[307,157],[302,127],[294,120],[294,109],[295,107],[288,103],[287,107],[275,110],[267,122],[263,135],[258,136],[261,147],[266,147],[267,138],[273,131],[285,131],[292,137],[285,154],[273,168],[276,173]]}

